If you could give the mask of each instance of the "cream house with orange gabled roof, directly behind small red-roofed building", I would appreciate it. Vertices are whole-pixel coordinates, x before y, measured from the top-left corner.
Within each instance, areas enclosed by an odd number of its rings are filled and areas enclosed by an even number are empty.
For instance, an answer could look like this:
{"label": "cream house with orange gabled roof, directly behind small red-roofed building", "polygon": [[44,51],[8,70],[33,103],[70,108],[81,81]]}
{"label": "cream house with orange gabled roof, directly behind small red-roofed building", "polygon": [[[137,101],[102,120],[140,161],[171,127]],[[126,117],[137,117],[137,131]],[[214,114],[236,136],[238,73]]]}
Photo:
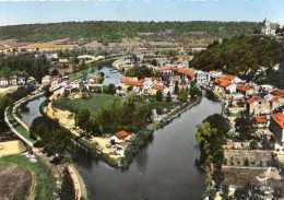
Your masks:
{"label": "cream house with orange gabled roof, directly behind small red-roofed building", "polygon": [[270,105],[263,98],[253,96],[247,99],[247,113],[250,116],[268,114],[270,111]]}

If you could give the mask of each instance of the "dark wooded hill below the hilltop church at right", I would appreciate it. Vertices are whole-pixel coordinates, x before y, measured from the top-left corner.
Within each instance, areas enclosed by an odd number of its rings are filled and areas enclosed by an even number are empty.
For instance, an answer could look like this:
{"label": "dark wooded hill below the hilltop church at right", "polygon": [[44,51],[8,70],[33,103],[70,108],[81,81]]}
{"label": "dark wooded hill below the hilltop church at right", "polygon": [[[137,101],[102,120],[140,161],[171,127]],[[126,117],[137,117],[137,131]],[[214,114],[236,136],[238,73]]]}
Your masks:
{"label": "dark wooded hill below the hilltop church at right", "polygon": [[[280,63],[279,70],[273,70]],[[284,87],[284,43],[274,37],[239,36],[214,42],[206,50],[201,51],[190,66],[204,70],[222,70],[228,74],[240,75],[247,81],[259,84],[273,84]],[[260,67],[267,70],[257,73]]]}

